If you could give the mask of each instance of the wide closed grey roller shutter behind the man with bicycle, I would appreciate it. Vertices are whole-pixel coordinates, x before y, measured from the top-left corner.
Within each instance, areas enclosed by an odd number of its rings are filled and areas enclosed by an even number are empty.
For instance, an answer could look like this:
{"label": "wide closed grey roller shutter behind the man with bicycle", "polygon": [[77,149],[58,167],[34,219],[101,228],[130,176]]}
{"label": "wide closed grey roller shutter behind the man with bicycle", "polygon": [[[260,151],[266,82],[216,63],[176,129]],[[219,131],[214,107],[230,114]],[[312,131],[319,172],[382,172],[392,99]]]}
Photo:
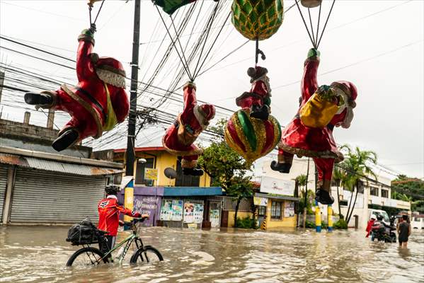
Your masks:
{"label": "wide closed grey roller shutter behind the man with bicycle", "polygon": [[98,221],[105,177],[18,168],[15,180],[11,222],[74,223],[85,216]]}

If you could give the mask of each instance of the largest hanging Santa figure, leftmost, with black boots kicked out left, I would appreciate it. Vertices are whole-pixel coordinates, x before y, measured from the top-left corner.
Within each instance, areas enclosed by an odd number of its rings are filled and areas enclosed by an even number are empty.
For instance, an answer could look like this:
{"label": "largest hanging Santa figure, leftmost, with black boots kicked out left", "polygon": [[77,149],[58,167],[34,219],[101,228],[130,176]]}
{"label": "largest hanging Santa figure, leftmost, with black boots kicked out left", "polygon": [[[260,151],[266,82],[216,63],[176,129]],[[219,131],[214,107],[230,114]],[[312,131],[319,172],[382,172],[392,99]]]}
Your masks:
{"label": "largest hanging Santa figure, leftmost, with black boots kicked out left", "polygon": [[78,84],[63,84],[57,91],[25,93],[25,102],[36,108],[62,110],[71,120],[59,132],[52,147],[57,151],[113,129],[128,115],[129,102],[125,92],[125,70],[111,57],[93,53],[96,26],[83,30],[78,37],[76,76]]}

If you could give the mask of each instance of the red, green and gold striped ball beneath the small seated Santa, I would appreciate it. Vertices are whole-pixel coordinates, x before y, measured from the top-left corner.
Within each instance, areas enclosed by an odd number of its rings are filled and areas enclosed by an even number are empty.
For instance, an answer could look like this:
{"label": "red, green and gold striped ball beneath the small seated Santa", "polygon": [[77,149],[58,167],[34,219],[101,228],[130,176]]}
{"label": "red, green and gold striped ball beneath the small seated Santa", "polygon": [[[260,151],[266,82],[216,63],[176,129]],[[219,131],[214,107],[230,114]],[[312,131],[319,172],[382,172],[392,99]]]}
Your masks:
{"label": "red, green and gold striped ball beneath the small seated Santa", "polygon": [[264,121],[250,117],[249,110],[239,110],[228,120],[224,136],[231,149],[252,163],[277,146],[281,139],[281,127],[271,115]]}

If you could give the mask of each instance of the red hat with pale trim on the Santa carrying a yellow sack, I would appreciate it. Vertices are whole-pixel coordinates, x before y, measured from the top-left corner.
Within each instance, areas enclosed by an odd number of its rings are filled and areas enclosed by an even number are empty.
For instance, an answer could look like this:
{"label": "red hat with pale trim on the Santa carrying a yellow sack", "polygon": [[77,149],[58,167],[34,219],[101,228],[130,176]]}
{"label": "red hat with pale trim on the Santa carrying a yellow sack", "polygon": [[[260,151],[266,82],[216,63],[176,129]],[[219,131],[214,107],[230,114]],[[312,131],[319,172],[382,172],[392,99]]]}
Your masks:
{"label": "red hat with pale trim on the Santa carrying a yellow sack", "polygon": [[350,83],[350,81],[335,81],[331,83],[331,88],[333,88],[333,90],[343,96],[346,106],[345,119],[343,120],[343,122],[338,123],[336,127],[342,126],[343,128],[347,129],[348,127],[350,127],[350,123],[353,120],[353,108],[356,107],[356,86],[353,83]]}

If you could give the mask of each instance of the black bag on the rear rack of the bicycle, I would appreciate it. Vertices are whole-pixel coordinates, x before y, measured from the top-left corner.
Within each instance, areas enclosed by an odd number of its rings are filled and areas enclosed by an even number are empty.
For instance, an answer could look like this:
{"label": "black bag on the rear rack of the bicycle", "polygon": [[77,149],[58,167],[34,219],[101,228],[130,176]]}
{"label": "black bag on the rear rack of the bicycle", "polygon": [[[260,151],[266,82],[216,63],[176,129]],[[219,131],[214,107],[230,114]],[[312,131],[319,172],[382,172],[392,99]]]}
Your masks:
{"label": "black bag on the rear rack of the bicycle", "polygon": [[97,228],[87,216],[83,221],[74,224],[68,230],[67,242],[74,245],[98,243]]}

